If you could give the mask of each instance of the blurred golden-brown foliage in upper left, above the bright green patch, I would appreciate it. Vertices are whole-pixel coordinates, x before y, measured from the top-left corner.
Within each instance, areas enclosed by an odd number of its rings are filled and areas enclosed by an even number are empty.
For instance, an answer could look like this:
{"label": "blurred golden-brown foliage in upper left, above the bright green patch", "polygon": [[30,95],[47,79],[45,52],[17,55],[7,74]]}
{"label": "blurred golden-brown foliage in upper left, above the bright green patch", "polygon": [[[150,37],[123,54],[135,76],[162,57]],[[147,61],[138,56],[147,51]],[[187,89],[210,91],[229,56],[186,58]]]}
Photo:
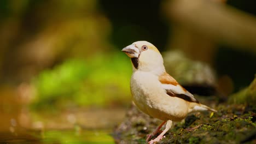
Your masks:
{"label": "blurred golden-brown foliage in upper left, above the bright green patch", "polygon": [[2,83],[28,82],[67,58],[113,47],[108,41],[112,26],[97,0],[4,0],[0,22]]}

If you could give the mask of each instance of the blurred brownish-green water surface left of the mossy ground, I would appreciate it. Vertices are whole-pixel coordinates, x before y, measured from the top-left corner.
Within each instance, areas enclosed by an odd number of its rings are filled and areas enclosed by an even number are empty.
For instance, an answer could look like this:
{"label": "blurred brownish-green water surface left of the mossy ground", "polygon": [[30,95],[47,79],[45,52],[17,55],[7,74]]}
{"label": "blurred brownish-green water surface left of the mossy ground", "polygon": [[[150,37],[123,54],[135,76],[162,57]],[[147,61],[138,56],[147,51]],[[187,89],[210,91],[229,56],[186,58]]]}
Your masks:
{"label": "blurred brownish-green water surface left of the mossy ground", "polygon": [[15,89],[0,89],[0,143],[114,143],[124,109],[32,111]]}

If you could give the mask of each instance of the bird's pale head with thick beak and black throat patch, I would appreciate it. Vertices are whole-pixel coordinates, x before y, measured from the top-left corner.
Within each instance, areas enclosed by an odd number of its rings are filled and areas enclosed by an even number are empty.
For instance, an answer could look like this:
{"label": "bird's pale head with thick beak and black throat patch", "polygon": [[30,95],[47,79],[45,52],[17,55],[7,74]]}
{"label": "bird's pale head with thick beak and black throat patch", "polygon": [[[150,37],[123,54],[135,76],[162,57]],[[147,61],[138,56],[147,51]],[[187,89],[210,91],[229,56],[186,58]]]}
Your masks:
{"label": "bird's pale head with thick beak and black throat patch", "polygon": [[161,53],[148,41],[136,41],[122,51],[131,58],[133,71],[151,71],[155,74],[165,71]]}

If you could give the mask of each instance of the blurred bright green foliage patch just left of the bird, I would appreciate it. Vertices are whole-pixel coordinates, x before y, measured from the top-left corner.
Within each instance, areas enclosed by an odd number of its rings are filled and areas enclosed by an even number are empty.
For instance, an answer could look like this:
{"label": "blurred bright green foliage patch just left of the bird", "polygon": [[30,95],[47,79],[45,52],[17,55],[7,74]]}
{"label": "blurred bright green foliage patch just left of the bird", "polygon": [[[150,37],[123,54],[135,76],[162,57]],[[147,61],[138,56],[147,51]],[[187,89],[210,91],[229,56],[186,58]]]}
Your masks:
{"label": "blurred bright green foliage patch just left of the bird", "polygon": [[35,109],[65,106],[112,106],[130,103],[131,67],[123,53],[68,59],[33,80]]}

